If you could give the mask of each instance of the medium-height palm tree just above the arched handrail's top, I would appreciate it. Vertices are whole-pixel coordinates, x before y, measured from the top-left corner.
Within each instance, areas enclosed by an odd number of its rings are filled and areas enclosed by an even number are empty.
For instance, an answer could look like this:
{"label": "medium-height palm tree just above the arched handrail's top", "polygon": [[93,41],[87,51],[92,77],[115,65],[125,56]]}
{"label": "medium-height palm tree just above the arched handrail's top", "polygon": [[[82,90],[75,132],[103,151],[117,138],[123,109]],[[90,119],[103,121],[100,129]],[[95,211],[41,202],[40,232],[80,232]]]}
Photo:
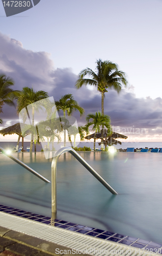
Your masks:
{"label": "medium-height palm tree just above the arched handrail's top", "polygon": [[[66,94],[62,96],[59,101],[55,101],[55,104],[59,112],[60,110],[63,111],[65,118],[66,112],[68,116],[70,116],[76,110],[79,111],[80,116],[84,114],[84,109],[77,103],[76,100],[74,100],[72,94]],[[64,146],[66,146],[66,129],[64,129]]]}

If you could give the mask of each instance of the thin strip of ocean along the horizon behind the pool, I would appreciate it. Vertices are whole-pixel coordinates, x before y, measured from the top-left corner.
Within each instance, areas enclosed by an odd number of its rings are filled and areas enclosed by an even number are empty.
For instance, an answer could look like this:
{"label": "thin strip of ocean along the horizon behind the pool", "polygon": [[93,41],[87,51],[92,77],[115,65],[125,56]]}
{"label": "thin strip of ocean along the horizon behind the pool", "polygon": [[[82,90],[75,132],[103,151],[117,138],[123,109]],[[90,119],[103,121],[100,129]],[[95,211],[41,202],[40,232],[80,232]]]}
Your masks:
{"label": "thin strip of ocean along the horizon behind the pool", "polygon": [[[6,142],[6,141],[0,141],[0,146],[2,148],[4,148],[5,150],[10,149],[12,150],[13,146],[16,146],[17,142],[15,141],[10,141],[10,142]],[[21,146],[21,142],[19,143],[19,147]],[[30,141],[28,142],[24,142],[24,150],[26,150],[26,147],[30,146]],[[81,146],[88,146],[91,149],[93,148],[93,142],[87,142],[87,141],[83,141],[83,142],[79,142],[79,144],[77,145],[78,147]],[[40,152],[42,149],[41,144],[37,144],[37,152]],[[96,147],[100,148],[100,146],[98,145],[98,142],[96,142]],[[134,148],[140,148],[140,147],[162,147],[162,142],[122,142],[122,144],[117,144],[115,145],[115,147],[117,149],[122,148],[122,149],[126,149],[127,147],[134,147]],[[33,144],[33,152],[34,152],[34,144]]]}

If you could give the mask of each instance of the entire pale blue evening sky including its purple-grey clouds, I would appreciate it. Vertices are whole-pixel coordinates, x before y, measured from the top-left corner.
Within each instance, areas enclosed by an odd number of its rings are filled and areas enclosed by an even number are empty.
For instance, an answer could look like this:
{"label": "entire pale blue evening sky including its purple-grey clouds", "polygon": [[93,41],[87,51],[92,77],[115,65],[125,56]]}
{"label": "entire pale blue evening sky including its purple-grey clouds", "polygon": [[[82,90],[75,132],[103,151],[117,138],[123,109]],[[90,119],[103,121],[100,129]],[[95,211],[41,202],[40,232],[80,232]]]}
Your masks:
{"label": "entire pale blue evening sky including its purple-grey clouds", "polygon": [[[0,73],[13,78],[14,90],[33,87],[56,100],[72,93],[85,109],[82,119],[74,114],[81,125],[87,114],[101,111],[101,95],[96,88],[77,90],[78,73],[95,70],[99,58],[115,62],[128,86],[105,94],[113,130],[129,141],[162,141],[161,12],[162,0],[41,0],[6,17],[0,2]],[[7,105],[0,118],[0,129],[19,121]]]}

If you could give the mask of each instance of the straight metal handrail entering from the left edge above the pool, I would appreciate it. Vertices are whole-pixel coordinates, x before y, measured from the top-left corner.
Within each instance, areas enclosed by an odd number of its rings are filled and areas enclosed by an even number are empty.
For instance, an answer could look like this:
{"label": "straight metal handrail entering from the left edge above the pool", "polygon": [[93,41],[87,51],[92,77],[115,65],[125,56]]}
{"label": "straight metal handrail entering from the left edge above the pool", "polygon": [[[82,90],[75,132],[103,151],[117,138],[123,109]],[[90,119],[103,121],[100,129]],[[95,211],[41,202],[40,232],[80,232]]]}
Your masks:
{"label": "straight metal handrail entering from the left edge above the pool", "polygon": [[26,170],[29,170],[29,172],[31,172],[32,174],[34,174],[35,176],[37,176],[39,179],[50,183],[49,180],[47,180],[46,178],[44,178],[42,175],[40,175],[39,173],[37,173],[34,169],[32,169],[31,167],[29,167],[28,165],[26,165],[25,163],[21,162],[19,159],[17,159],[16,157],[7,154],[7,152],[4,150],[4,148],[0,147],[0,152],[2,152],[4,155],[6,155],[7,157],[11,158],[13,161],[15,161],[16,163],[20,164],[22,167],[24,167]]}

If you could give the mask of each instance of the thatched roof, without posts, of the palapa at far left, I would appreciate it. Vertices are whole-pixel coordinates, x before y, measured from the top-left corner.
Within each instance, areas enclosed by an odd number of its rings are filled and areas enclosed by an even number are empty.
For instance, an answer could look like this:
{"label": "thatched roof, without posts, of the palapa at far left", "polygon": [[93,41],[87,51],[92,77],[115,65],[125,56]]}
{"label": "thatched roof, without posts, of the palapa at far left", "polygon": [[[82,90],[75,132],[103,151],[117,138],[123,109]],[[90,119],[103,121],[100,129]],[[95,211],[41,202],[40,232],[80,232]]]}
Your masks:
{"label": "thatched roof, without posts, of the palapa at far left", "polygon": [[[25,124],[21,124],[21,125],[25,125]],[[25,135],[23,137],[25,137],[26,135],[30,134],[31,132],[28,130],[25,132]],[[14,125],[11,125],[7,128],[4,128],[2,130],[0,130],[0,134],[2,134],[3,136],[9,134],[17,134],[19,136],[22,137],[22,133],[21,133],[21,127],[20,127],[20,123],[15,123]]]}

